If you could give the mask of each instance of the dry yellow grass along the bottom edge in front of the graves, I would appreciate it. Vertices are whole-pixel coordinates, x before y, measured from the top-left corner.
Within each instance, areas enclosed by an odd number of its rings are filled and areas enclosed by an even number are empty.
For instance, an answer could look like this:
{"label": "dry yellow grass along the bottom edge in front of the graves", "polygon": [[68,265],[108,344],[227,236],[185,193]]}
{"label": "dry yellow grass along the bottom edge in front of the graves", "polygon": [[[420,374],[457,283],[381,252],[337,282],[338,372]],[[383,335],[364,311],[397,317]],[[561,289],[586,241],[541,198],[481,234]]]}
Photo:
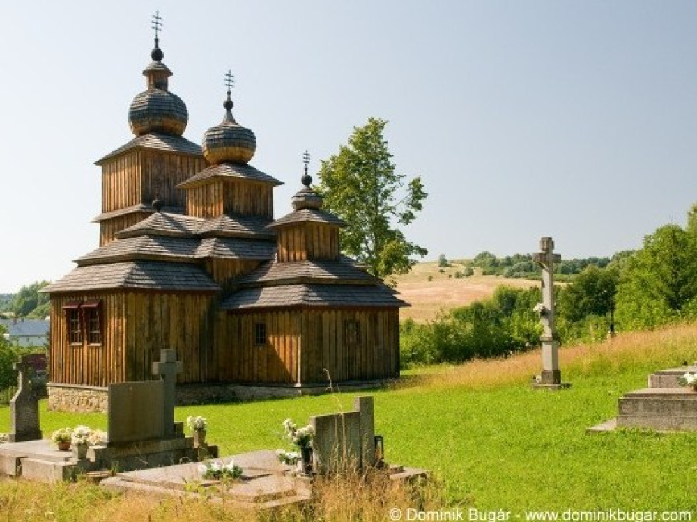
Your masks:
{"label": "dry yellow grass along the bottom edge in front of the graves", "polygon": [[442,484],[397,484],[384,470],[316,480],[305,505],[255,512],[203,498],[112,493],[78,482],[40,484],[0,478],[0,522],[383,521],[393,508],[436,509]]}

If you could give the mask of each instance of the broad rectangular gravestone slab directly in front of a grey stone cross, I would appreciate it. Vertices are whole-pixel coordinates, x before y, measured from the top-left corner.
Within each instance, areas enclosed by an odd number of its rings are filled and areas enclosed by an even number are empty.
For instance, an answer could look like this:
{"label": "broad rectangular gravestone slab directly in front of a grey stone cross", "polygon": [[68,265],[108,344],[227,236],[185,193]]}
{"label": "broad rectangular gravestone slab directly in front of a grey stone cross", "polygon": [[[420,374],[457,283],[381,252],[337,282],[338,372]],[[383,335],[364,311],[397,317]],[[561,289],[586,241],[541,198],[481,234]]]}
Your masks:
{"label": "broad rectangular gravestone slab directly in front of a grey stone cross", "polygon": [[164,436],[164,383],[109,384],[109,444],[148,441]]}

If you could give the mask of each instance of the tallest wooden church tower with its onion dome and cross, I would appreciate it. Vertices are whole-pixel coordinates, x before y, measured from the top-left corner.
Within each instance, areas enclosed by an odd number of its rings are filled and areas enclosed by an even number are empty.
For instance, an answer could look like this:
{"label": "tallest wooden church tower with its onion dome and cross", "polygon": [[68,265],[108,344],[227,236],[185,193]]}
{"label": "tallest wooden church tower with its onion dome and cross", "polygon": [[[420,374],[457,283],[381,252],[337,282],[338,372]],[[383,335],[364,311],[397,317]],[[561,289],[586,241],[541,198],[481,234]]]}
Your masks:
{"label": "tallest wooden church tower with its onion dome and cross", "polygon": [[155,199],[169,212],[183,212],[185,193],[176,185],[207,165],[199,145],[182,137],[189,113],[181,98],[169,91],[172,72],[162,62],[161,28],[156,14],[153,61],[143,71],[146,90],[133,98],[128,111],[135,138],[96,162],[102,167],[102,213],[93,221],[100,224],[100,246],[153,214]]}

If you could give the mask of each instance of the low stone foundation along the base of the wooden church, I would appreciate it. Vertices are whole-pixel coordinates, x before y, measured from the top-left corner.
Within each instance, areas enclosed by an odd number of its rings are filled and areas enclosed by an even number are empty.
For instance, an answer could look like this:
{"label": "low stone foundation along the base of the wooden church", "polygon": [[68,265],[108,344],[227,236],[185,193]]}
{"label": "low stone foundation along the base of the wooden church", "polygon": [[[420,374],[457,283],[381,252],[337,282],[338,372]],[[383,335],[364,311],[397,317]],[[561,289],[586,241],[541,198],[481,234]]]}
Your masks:
{"label": "low stone foundation along the base of the wooden church", "polygon": [[[380,388],[393,379],[335,383],[333,391],[357,391]],[[325,384],[308,386],[249,386],[244,384],[211,383],[182,384],[176,387],[176,405],[194,406],[215,402],[240,402],[263,399],[282,399],[301,395],[321,395],[332,390]],[[109,397],[107,388],[76,386],[75,384],[49,383],[48,407],[52,411],[88,413],[107,412]]]}

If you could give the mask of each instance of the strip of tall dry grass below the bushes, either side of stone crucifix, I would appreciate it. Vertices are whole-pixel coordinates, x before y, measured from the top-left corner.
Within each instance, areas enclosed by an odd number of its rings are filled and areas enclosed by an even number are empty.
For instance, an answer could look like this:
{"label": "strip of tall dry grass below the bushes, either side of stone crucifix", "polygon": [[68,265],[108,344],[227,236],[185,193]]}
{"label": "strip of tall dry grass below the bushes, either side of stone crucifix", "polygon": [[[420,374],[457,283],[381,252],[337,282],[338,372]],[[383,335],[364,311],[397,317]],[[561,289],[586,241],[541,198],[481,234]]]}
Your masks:
{"label": "strip of tall dry grass below the bushes, either side of stone crucifix", "polygon": [[[559,352],[562,373],[589,375],[598,370],[618,372],[627,367],[645,367],[648,372],[680,366],[697,360],[697,325],[683,324],[657,331],[630,332],[592,345],[565,347]],[[443,367],[420,377],[425,386],[490,389],[521,383],[539,374],[539,350],[510,358],[470,361]]]}

